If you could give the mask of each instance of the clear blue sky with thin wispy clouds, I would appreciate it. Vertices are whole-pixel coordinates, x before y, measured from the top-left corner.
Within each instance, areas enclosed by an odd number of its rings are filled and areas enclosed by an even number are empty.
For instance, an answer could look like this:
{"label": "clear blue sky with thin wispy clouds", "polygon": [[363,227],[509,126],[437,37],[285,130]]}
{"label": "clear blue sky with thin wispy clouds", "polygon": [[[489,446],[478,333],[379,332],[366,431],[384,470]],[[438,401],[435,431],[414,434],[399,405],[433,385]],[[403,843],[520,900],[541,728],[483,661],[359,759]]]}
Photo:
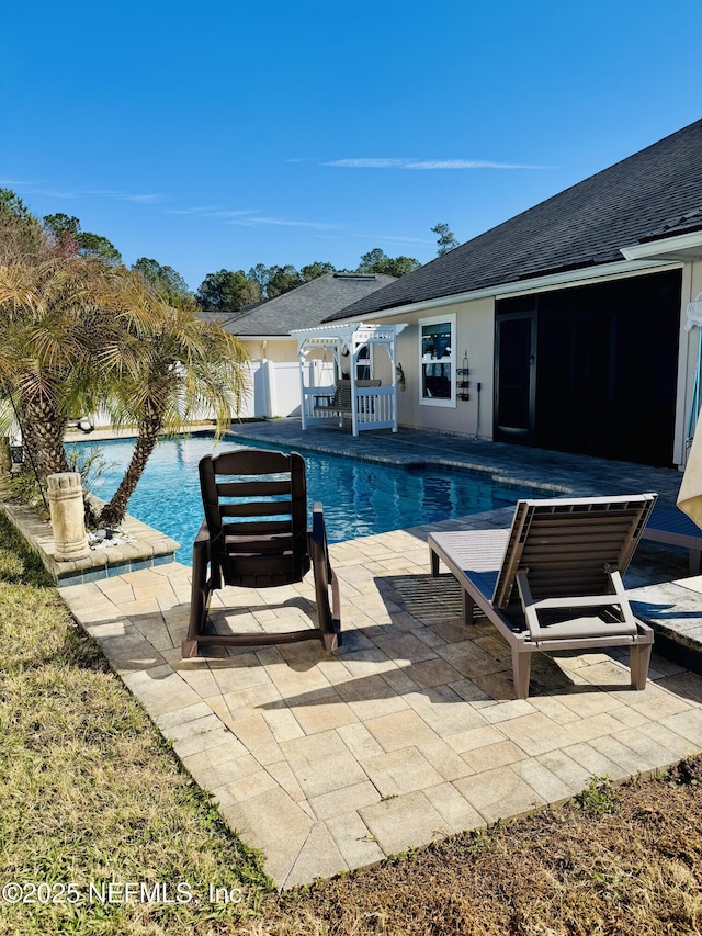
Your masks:
{"label": "clear blue sky with thin wispy clouds", "polygon": [[25,0],[0,185],[196,289],[427,262],[702,116],[702,3]]}

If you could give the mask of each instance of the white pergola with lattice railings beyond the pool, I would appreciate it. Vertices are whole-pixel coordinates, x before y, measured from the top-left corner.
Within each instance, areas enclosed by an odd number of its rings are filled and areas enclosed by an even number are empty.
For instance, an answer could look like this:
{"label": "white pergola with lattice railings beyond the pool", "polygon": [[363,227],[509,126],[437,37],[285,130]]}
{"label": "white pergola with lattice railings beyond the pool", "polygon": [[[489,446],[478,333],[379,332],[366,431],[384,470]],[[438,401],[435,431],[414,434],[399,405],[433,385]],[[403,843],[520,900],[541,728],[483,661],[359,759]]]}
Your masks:
{"label": "white pergola with lattice railings beyond the pool", "polygon": [[[398,325],[366,325],[363,322],[344,325],[328,325],[291,331],[297,340],[302,395],[303,429],[309,426],[337,422],[343,425],[344,416],[351,418],[354,436],[366,429],[392,429],[397,432],[397,336],[406,328]],[[370,385],[374,381],[360,377],[359,370],[367,370],[372,376],[373,357],[371,348],[384,348],[389,359],[390,382],[387,385]],[[314,373],[306,366],[315,351],[330,353],[333,361],[336,382],[324,386],[305,385],[305,373]],[[350,392],[341,393],[341,375],[348,369]]]}

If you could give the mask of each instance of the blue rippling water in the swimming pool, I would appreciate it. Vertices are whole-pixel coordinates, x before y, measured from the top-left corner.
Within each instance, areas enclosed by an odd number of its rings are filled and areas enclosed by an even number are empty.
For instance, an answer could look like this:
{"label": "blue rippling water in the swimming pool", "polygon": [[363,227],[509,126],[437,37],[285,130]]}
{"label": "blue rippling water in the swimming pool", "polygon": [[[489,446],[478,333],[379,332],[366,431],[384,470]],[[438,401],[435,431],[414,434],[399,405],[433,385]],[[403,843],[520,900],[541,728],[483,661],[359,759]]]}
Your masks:
{"label": "blue rippling water in the swimming pool", "polygon": [[[240,447],[239,440],[212,438],[159,442],[127,510],[181,543],[176,554],[190,565],[192,543],[203,520],[197,463],[210,452]],[[267,448],[251,443],[253,448]],[[134,448],[129,441],[81,442],[81,456],[99,450],[109,463],[90,483],[99,497],[107,500],[122,481]],[[272,448],[272,447],[269,447]],[[437,469],[403,469],[356,459],[305,453],[307,493],[324,505],[329,542],[385,533],[421,523],[432,523],[480,514],[514,504],[524,492],[498,487],[489,477],[475,473]]]}

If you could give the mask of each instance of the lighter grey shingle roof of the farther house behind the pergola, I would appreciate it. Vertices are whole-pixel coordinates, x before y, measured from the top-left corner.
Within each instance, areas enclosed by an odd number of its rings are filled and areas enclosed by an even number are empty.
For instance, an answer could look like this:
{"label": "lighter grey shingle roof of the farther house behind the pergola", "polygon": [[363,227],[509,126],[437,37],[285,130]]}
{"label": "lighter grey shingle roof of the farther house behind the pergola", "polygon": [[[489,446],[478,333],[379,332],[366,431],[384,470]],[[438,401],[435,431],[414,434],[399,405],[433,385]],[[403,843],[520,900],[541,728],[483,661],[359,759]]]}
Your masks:
{"label": "lighter grey shingle roof of the farther house behind the pergola", "polygon": [[287,293],[230,316],[225,329],[247,335],[287,335],[295,328],[315,328],[324,318],[356,300],[395,282],[383,273],[325,273]]}

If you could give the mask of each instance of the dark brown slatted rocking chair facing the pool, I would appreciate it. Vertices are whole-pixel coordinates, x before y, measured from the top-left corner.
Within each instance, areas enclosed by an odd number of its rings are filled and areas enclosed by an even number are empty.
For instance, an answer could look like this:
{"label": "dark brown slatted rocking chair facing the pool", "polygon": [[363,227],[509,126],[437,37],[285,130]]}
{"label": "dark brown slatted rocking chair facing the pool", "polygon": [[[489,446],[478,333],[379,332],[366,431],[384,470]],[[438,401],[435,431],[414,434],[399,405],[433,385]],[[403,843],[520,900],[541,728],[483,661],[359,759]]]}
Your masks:
{"label": "dark brown slatted rocking chair facing the pool", "polygon": [[[184,657],[199,644],[264,646],[319,640],[341,643],[339,588],[329,564],[321,504],[307,530],[305,461],[293,452],[241,449],[200,462],[205,520],[193,545],[193,578]],[[269,588],[315,577],[317,627],[278,633],[206,632],[212,593],[223,585]],[[330,604],[331,595],[331,604]]]}

